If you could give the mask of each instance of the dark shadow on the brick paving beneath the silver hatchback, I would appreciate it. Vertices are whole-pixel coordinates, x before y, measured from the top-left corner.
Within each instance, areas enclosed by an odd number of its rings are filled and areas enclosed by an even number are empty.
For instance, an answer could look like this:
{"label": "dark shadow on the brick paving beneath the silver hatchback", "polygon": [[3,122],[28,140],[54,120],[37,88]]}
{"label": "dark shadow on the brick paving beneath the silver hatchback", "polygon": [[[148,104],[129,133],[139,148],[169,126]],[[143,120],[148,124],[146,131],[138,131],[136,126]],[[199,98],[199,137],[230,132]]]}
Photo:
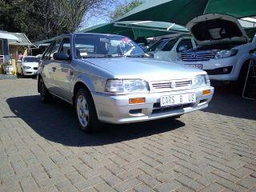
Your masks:
{"label": "dark shadow on the brick paving beneath the silver hatchback", "polygon": [[16,116],[3,118],[21,118],[43,138],[64,146],[102,146],[161,134],[185,126],[174,118],[164,118],[154,122],[106,124],[104,130],[97,134],[82,134],[82,130],[78,129],[73,107],[62,100],[55,100],[50,105],[45,105],[40,102],[38,95],[8,98],[10,110]]}

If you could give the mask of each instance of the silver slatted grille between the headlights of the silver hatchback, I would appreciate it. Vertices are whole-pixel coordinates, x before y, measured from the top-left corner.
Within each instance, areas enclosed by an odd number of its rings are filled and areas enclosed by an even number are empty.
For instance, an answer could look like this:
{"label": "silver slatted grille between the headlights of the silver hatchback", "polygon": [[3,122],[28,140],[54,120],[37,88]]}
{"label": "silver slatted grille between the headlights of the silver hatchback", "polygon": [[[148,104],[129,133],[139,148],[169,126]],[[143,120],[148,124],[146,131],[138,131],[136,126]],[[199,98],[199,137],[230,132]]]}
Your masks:
{"label": "silver slatted grille between the headlights of the silver hatchback", "polygon": [[162,89],[174,89],[177,90],[177,88],[185,88],[187,86],[192,85],[192,80],[186,80],[186,81],[167,81],[167,82],[152,82],[152,87],[154,90],[162,90]]}

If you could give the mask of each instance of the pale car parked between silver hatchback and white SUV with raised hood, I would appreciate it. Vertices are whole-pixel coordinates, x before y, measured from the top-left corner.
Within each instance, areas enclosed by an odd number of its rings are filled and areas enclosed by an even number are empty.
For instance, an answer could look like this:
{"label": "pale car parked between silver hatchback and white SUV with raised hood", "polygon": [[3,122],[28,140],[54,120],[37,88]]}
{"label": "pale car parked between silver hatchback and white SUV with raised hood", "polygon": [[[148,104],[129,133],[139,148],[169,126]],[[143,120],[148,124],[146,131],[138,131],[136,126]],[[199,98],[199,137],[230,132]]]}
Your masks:
{"label": "pale car parked between silver hatchback and white SUV with raised hood", "polygon": [[152,44],[146,53],[151,54],[154,58],[166,61],[177,62],[178,53],[181,50],[190,50],[196,48],[194,38],[188,35],[181,35],[175,38],[164,38]]}

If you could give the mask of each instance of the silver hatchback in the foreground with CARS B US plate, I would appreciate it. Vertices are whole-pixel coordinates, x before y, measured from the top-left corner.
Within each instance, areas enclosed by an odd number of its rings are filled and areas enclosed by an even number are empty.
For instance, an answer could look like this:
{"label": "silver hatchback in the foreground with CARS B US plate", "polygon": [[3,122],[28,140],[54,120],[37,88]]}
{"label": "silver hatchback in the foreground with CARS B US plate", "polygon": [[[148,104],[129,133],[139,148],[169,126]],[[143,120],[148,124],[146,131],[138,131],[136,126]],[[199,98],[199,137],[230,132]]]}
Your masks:
{"label": "silver hatchback in the foreground with CARS B US plate", "polygon": [[180,116],[208,106],[214,87],[203,70],[150,58],[130,38],[66,34],[42,55],[38,92],[74,105],[82,130]]}

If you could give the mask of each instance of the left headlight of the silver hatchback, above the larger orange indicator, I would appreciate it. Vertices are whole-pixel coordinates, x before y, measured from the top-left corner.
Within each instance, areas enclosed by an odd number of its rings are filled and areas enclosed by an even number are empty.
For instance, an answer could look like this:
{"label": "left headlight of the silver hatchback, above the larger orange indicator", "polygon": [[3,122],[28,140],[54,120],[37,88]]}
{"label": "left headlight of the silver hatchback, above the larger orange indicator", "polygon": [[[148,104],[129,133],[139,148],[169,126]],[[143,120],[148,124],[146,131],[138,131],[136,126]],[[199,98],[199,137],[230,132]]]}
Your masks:
{"label": "left headlight of the silver hatchback, above the larger orange indicator", "polygon": [[108,79],[105,91],[110,93],[146,93],[149,91],[148,83],[141,79]]}

